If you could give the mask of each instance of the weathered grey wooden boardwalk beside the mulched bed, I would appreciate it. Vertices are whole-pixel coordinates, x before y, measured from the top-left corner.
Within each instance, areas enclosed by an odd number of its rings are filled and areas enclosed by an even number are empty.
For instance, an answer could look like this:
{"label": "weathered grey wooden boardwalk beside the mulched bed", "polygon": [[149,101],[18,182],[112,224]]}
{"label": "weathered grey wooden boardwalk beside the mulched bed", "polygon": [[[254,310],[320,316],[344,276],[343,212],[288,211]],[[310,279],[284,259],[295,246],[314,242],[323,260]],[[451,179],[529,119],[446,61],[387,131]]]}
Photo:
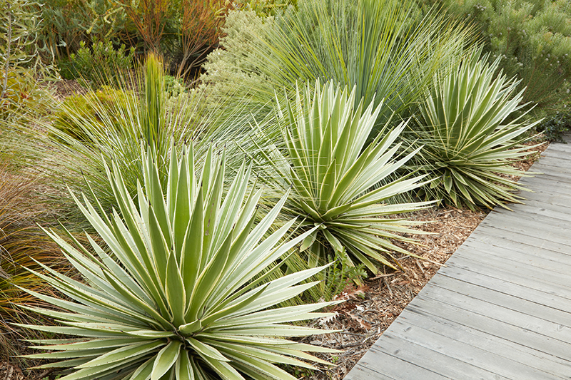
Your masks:
{"label": "weathered grey wooden boardwalk beside the mulched bed", "polygon": [[522,178],[345,380],[571,379],[571,138]]}

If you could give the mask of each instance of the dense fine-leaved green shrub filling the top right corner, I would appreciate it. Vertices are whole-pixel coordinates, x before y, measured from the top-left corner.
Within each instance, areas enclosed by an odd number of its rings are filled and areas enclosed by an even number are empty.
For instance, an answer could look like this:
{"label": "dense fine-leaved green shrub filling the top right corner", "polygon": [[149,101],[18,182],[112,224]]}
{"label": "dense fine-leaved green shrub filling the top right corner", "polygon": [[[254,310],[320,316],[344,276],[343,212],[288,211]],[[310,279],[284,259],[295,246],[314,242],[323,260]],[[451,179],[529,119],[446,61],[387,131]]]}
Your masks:
{"label": "dense fine-leaved green shrub filling the top right corner", "polygon": [[569,98],[571,5],[567,0],[437,0],[477,27],[490,60],[521,79],[524,102],[554,108]]}

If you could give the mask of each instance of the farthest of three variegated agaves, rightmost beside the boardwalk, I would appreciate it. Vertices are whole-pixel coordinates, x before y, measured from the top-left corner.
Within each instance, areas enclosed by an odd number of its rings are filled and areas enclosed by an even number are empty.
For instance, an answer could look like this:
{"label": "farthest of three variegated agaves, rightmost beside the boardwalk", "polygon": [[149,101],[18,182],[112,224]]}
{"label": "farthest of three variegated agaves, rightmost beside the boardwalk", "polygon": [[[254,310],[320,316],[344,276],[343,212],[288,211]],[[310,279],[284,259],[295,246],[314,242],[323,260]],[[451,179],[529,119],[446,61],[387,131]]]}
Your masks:
{"label": "farthest of three variegated agaves, rightmost beside the boardwalk", "polygon": [[514,113],[522,104],[519,82],[507,79],[480,50],[459,62],[448,75],[435,76],[434,86],[420,105],[418,125],[411,128],[413,138],[424,145],[415,168],[433,179],[423,193],[453,205],[493,207],[504,202],[519,202],[512,193],[524,190],[508,176],[522,172],[510,166],[522,160],[520,143],[535,123],[521,122]]}

